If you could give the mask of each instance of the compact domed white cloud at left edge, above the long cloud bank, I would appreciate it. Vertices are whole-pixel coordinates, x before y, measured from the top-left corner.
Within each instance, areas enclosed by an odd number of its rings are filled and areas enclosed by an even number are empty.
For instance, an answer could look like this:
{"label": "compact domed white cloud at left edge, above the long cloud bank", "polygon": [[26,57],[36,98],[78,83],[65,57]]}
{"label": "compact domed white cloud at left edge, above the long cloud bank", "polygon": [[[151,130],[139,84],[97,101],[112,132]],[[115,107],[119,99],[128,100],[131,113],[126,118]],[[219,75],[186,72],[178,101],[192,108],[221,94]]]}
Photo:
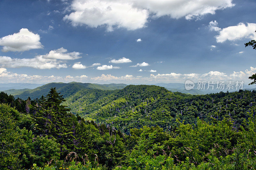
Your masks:
{"label": "compact domed white cloud at left edge, above the long cloud bank", "polygon": [[40,36],[28,31],[27,28],[22,28],[18,33],[2,37],[0,39],[0,46],[3,46],[3,52],[43,48]]}

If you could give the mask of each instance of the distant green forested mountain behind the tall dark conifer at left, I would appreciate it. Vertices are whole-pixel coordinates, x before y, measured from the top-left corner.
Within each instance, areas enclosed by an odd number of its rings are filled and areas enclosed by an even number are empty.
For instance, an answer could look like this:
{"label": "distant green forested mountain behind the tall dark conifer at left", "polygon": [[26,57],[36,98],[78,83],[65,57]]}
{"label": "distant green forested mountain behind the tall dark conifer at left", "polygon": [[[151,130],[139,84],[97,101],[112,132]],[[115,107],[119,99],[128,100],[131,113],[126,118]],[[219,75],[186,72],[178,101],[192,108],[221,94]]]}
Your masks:
{"label": "distant green forested mountain behind the tall dark conifer at left", "polygon": [[[31,99],[40,98],[41,96],[47,95],[49,89],[56,88],[57,92],[62,93],[64,98],[71,96],[82,89],[101,89],[101,90],[115,90],[123,89],[126,84],[92,84],[92,83],[79,83],[79,82],[70,82],[70,83],[48,83],[43,86],[37,87],[35,89],[29,90],[17,90],[12,94],[16,98]],[[23,91],[23,92],[21,92]],[[7,93],[7,91],[5,91]],[[9,92],[9,91],[8,91]]]}

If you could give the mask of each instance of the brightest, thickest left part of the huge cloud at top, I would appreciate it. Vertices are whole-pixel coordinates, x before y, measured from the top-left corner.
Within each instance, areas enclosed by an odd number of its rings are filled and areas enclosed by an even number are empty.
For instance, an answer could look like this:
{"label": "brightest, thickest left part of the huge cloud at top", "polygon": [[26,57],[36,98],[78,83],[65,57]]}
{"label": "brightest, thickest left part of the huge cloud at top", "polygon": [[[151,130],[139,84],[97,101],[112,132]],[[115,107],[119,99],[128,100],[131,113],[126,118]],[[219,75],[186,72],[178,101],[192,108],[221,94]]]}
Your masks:
{"label": "brightest, thickest left part of the huge cloud at top", "polygon": [[92,28],[106,25],[108,31],[113,27],[135,30],[145,26],[148,11],[138,9],[128,1],[116,0],[74,0],[71,5],[74,12],[63,19],[76,25],[88,25]]}

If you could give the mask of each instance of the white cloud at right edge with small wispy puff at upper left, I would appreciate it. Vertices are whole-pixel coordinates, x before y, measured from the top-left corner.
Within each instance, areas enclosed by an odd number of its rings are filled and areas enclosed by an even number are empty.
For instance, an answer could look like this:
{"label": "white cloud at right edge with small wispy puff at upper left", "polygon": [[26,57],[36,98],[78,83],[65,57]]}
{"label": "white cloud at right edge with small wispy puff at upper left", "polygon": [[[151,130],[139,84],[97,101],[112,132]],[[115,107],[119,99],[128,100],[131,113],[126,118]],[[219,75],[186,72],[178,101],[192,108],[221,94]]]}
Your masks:
{"label": "white cloud at right edge with small wispy puff at upper left", "polygon": [[[214,21],[215,22],[215,21]],[[218,43],[225,42],[226,40],[235,41],[243,38],[256,39],[256,24],[255,23],[239,23],[236,26],[229,26],[227,28],[219,28],[214,26],[213,21],[209,23],[210,30],[219,32],[219,35],[215,36]]]}

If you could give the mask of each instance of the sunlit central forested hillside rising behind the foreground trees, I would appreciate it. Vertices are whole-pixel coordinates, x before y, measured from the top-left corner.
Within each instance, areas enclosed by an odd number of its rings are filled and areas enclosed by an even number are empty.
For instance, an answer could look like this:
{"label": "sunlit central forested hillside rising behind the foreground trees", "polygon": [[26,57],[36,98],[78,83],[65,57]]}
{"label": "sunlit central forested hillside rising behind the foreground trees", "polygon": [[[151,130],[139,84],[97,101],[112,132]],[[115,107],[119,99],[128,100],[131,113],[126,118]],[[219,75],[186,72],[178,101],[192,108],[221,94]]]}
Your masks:
{"label": "sunlit central forested hillside rising behind the foreground trees", "polygon": [[168,130],[176,124],[176,119],[193,124],[197,117],[206,122],[211,122],[212,118],[230,117],[241,124],[256,105],[254,90],[187,95],[154,85],[128,85],[116,91],[86,93],[78,92],[64,104],[74,114],[96,123],[113,125],[125,133],[144,125],[158,125]]}

